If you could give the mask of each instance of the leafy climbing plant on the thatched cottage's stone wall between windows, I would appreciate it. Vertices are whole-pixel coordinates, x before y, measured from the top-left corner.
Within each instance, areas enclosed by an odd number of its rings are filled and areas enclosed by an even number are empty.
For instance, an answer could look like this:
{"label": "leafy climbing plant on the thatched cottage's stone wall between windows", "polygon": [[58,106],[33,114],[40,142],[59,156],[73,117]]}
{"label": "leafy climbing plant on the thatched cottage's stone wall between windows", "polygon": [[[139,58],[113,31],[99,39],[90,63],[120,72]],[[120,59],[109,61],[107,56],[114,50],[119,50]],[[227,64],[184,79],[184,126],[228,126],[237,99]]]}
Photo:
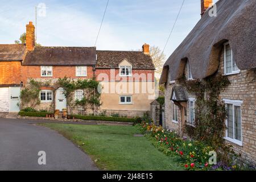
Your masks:
{"label": "leafy climbing plant on the thatched cottage's stone wall between windows", "polygon": [[[221,90],[230,84],[227,77],[213,75],[203,80],[184,81],[188,92],[196,97],[195,126],[185,125],[189,137],[202,140],[213,146],[221,154],[221,160],[230,160],[228,154],[234,153],[231,146],[225,144],[226,108],[220,99]],[[229,155],[230,156],[230,155]]]}

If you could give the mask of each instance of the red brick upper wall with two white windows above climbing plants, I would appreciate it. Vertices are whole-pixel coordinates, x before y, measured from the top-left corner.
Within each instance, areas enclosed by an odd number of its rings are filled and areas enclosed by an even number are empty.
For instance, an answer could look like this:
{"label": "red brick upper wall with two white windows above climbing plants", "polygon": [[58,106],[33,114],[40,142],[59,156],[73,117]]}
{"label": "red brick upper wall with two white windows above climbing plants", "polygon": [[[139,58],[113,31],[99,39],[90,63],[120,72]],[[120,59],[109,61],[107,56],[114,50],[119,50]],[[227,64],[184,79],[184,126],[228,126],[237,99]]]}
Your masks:
{"label": "red brick upper wall with two white windows above climbing plants", "polygon": [[22,81],[26,84],[28,78],[93,78],[93,67],[87,67],[86,77],[76,77],[76,67],[66,67],[66,66],[53,66],[52,67],[52,77],[42,77],[40,66],[22,66]]}

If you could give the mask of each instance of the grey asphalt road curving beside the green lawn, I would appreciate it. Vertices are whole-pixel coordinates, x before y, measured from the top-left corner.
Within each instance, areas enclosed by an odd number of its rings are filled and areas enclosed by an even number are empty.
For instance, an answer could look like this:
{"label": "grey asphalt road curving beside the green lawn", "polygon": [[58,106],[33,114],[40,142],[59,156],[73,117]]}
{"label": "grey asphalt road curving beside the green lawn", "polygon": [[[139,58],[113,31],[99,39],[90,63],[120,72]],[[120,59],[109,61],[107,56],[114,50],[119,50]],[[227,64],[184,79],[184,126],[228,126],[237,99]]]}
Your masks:
{"label": "grey asphalt road curving beside the green lawn", "polygon": [[[38,164],[39,151],[46,152],[46,165]],[[56,131],[28,120],[0,118],[0,170],[98,169],[88,155]]]}

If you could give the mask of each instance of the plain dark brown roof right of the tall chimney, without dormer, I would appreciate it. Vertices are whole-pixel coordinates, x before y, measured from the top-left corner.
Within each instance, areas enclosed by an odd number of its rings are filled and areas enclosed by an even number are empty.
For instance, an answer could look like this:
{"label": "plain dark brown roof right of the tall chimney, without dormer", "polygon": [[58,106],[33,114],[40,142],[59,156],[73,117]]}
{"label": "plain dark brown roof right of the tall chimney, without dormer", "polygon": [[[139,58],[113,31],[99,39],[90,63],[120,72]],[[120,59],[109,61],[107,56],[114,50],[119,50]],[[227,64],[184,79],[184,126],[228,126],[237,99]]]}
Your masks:
{"label": "plain dark brown roof right of the tall chimney, without dormer", "polygon": [[96,47],[35,47],[23,65],[95,65]]}

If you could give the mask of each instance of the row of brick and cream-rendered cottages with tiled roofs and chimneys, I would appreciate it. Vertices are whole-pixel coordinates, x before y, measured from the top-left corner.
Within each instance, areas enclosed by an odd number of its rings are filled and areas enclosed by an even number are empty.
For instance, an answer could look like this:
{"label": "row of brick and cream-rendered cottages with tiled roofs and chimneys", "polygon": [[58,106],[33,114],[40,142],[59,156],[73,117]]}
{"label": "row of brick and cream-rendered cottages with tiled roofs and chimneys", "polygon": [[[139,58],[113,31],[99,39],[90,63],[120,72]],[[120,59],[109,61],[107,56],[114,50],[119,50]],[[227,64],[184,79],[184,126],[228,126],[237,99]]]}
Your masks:
{"label": "row of brick and cream-rendered cottages with tiled roofs and chimneys", "polygon": [[[95,78],[101,85],[101,103],[97,113],[142,116],[150,111],[155,96],[155,67],[148,44],[143,51],[99,51],[96,47],[36,47],[35,27],[26,26],[26,44],[0,44],[0,112],[19,111],[20,90],[31,79],[49,86],[40,88],[38,110],[70,109],[63,88],[53,93],[59,78],[73,80]],[[120,86],[121,85],[121,86]],[[149,85],[149,86],[148,86]],[[143,90],[143,88],[149,88]],[[117,89],[120,88],[120,89]],[[127,88],[132,89],[127,92]],[[75,90],[74,100],[80,100],[84,90]],[[76,107],[74,113],[83,113]],[[93,113],[92,110],[86,114]]]}

